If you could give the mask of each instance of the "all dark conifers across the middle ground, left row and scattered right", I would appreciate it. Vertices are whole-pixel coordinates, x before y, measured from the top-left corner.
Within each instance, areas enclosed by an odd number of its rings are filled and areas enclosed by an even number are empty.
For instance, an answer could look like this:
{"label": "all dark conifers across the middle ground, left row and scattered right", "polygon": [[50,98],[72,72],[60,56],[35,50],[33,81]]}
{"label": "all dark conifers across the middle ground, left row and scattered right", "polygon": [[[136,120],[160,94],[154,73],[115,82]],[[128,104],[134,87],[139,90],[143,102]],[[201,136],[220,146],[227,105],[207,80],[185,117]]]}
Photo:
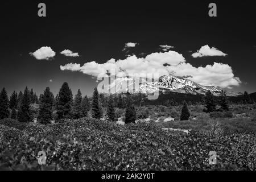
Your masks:
{"label": "all dark conifers across the middle ground, left row and scattered right", "polygon": [[[220,96],[216,97],[208,91],[205,96],[200,96],[200,104],[205,106],[204,111],[211,113],[214,111],[228,111],[229,104],[226,91],[222,91]],[[179,105],[173,98],[167,100],[169,105]],[[117,96],[104,96],[98,93],[97,88],[94,88],[92,98],[88,96],[82,97],[81,90],[77,90],[75,97],[67,82],[61,86],[59,93],[56,97],[53,96],[50,88],[47,87],[39,98],[33,89],[24,89],[24,92],[14,91],[10,98],[3,88],[0,93],[0,119],[12,118],[20,122],[31,122],[36,115],[38,121],[43,124],[51,123],[54,119],[79,119],[88,117],[101,119],[106,110],[106,120],[110,122],[116,121],[115,109],[125,109],[125,123],[134,123],[136,120],[135,106],[141,107],[145,105],[146,97],[143,94],[132,96],[131,94],[118,94]],[[242,104],[253,104],[254,101],[250,98],[249,94],[245,92],[242,96]],[[35,110],[35,105],[38,110]],[[188,104],[183,101],[183,107],[180,111],[180,120],[188,120],[190,117],[188,105],[192,105],[189,101]],[[217,105],[220,106],[217,109]]]}

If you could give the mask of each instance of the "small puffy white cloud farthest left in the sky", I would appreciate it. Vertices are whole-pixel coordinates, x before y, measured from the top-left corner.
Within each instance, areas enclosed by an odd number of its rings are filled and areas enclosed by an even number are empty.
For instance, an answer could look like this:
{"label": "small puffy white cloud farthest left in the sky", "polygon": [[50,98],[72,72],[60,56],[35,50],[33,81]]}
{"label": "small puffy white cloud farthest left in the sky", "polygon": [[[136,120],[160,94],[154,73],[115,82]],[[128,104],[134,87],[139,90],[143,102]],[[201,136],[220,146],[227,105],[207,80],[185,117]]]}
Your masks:
{"label": "small puffy white cloud farthest left in the sky", "polygon": [[53,58],[56,53],[52,51],[51,47],[41,47],[35,52],[30,52],[30,55],[38,60],[49,60]]}

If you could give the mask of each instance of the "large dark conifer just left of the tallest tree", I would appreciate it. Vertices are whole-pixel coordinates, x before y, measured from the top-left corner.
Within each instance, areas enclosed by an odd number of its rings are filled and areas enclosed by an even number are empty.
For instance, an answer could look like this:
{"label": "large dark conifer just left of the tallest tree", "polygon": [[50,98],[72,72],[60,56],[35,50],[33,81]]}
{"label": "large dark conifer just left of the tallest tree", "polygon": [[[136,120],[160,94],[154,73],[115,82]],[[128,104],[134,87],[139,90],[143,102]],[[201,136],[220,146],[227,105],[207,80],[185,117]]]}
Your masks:
{"label": "large dark conifer just left of the tallest tree", "polygon": [[49,87],[47,87],[46,90],[44,90],[42,102],[39,107],[38,119],[40,119],[40,123],[47,124],[53,119],[53,98]]}

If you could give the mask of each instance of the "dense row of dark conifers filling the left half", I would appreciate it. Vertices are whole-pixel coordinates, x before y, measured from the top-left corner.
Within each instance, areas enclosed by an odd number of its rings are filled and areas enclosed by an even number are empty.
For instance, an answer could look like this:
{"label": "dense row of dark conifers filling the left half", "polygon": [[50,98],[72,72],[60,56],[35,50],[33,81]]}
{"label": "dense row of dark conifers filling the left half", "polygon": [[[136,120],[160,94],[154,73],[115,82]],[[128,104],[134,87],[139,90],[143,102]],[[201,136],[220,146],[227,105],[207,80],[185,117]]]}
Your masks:
{"label": "dense row of dark conifers filling the left half", "polygon": [[[51,123],[53,119],[78,119],[87,117],[88,112],[91,111],[93,118],[101,119],[104,107],[106,108],[106,119],[108,121],[115,121],[115,107],[125,109],[126,99],[119,96],[113,99],[113,96],[106,98],[104,94],[98,93],[97,88],[94,89],[92,99],[87,96],[82,97],[81,90],[77,91],[73,99],[73,94],[67,82],[61,86],[56,97],[53,96],[50,88],[47,87],[39,98],[34,93],[33,89],[28,90],[26,87],[24,92],[13,92],[9,97],[5,88],[0,93],[0,119],[12,118],[20,122],[30,122],[35,116],[39,122],[47,124]],[[32,105],[32,104],[38,104]],[[130,103],[127,112],[135,113],[135,107]],[[35,111],[35,107],[38,110]],[[133,111],[130,110],[132,107]],[[135,116],[130,117],[131,121],[135,122]]]}

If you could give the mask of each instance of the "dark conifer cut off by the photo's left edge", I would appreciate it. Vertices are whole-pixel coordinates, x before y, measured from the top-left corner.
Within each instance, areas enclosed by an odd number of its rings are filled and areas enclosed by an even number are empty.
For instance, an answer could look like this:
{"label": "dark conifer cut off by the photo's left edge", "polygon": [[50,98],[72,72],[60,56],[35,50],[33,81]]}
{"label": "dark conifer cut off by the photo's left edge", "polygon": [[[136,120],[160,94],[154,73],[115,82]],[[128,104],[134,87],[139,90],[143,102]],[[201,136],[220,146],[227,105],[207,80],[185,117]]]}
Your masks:
{"label": "dark conifer cut off by the photo's left edge", "polygon": [[2,89],[0,93],[0,119],[8,118],[9,117],[9,98],[7,96],[7,92],[5,88]]}

